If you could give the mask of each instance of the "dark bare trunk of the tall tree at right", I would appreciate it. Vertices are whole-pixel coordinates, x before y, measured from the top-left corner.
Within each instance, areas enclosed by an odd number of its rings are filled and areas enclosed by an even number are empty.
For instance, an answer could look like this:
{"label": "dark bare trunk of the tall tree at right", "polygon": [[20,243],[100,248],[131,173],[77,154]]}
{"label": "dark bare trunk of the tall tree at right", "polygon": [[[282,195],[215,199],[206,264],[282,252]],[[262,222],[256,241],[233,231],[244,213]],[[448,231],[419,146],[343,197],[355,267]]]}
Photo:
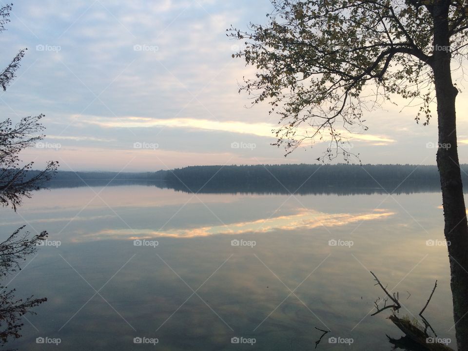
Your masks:
{"label": "dark bare trunk of the tall tree at right", "polygon": [[[448,242],[450,287],[457,347],[468,351],[468,223],[457,151],[455,98],[450,72],[448,1],[434,1],[432,69],[437,98],[439,148],[437,167],[442,188],[444,234]],[[444,50],[444,48],[446,50]]]}

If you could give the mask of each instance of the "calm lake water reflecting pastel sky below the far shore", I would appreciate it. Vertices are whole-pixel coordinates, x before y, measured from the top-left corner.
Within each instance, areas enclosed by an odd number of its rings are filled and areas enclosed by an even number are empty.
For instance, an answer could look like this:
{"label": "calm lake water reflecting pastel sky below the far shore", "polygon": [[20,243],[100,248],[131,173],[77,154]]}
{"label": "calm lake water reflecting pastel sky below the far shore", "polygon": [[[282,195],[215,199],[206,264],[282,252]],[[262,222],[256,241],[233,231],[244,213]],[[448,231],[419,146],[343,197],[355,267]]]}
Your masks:
{"label": "calm lake water reflecting pastel sky below the far shore", "polygon": [[[37,315],[26,315],[23,336],[8,348],[312,350],[319,328],[331,332],[318,350],[391,350],[386,334],[402,333],[389,310],[370,316],[383,297],[372,271],[399,292],[400,316],[416,316],[438,279],[424,314],[455,349],[440,205],[437,193],[194,195],[145,185],[41,191],[18,214],[0,212],[3,238],[27,223],[60,241],[5,278],[18,297],[48,298]],[[333,239],[341,245],[330,245]],[[38,344],[38,337],[60,344]],[[136,337],[158,343],[136,345]]]}

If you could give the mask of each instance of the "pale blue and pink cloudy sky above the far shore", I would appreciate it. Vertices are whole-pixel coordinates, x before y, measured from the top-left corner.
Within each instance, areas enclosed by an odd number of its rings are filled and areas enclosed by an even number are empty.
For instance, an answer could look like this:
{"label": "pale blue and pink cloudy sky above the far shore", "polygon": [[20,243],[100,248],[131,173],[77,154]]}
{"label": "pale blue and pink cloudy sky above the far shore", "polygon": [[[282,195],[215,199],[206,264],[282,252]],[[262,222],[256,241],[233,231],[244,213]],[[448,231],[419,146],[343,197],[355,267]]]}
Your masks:
{"label": "pale blue and pink cloudy sky above the far shore", "polygon": [[[21,154],[37,168],[47,160],[65,171],[122,172],[315,163],[324,143],[285,158],[270,145],[278,116],[238,93],[255,71],[232,58],[241,43],[226,28],[265,23],[271,10],[269,0],[15,1],[0,35],[0,64],[28,51],[0,93],[1,118],[46,115],[45,139]],[[403,107],[366,112],[369,130],[350,140],[363,163],[435,164],[436,120],[418,125],[417,108]],[[467,108],[462,92],[458,136],[466,163]]]}

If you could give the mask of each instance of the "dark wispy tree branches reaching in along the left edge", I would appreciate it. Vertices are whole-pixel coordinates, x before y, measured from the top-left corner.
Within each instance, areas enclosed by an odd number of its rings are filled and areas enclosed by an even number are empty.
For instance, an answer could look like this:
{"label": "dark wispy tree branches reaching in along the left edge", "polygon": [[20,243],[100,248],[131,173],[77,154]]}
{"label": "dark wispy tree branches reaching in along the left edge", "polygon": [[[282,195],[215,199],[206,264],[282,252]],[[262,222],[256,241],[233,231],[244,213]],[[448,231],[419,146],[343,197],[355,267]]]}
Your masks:
{"label": "dark wispy tree branches reaching in along the left edge", "polygon": [[[12,5],[0,8],[0,33],[5,30],[9,21]],[[8,66],[0,73],[0,85],[3,90],[15,78],[15,72],[20,67],[20,60],[25,50],[15,56]],[[43,187],[57,170],[59,164],[49,161],[44,170],[32,172],[34,162],[23,163],[19,153],[25,148],[33,146],[43,139],[40,132],[44,127],[39,120],[44,117],[40,114],[35,117],[23,117],[20,122],[13,125],[10,119],[0,122],[0,203],[11,206],[16,212],[24,196],[30,197],[32,191]],[[6,240],[0,242],[0,274],[3,276],[20,269],[20,261],[37,251],[38,245],[47,237],[43,231],[37,235],[29,232],[20,234],[24,226],[17,229]],[[20,317],[33,307],[47,301],[47,298],[16,299],[15,290],[7,290],[0,286],[0,342],[6,343],[10,337],[20,337],[22,323]]]}

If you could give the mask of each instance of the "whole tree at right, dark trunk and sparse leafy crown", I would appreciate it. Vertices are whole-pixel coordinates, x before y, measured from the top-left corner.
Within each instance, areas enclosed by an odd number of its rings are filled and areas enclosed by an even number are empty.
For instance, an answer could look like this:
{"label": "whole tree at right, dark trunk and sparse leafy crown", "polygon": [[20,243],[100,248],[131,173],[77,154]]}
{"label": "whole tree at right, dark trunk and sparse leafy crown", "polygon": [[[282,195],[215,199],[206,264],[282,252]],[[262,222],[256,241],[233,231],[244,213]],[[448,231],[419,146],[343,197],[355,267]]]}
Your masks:
{"label": "whole tree at right, dark trunk and sparse leafy crown", "polygon": [[[416,122],[437,104],[439,169],[458,350],[468,350],[468,224],[457,152],[451,68],[466,57],[466,0],[272,0],[267,25],[232,27],[245,47],[234,57],[257,69],[240,91],[280,115],[275,145],[292,152],[330,137],[320,158],[342,154],[363,110],[418,99]],[[371,105],[370,105],[371,104]],[[312,132],[311,132],[312,131]],[[442,146],[442,147],[440,147]],[[443,147],[446,146],[446,147]],[[448,147],[447,147],[448,146]]]}

